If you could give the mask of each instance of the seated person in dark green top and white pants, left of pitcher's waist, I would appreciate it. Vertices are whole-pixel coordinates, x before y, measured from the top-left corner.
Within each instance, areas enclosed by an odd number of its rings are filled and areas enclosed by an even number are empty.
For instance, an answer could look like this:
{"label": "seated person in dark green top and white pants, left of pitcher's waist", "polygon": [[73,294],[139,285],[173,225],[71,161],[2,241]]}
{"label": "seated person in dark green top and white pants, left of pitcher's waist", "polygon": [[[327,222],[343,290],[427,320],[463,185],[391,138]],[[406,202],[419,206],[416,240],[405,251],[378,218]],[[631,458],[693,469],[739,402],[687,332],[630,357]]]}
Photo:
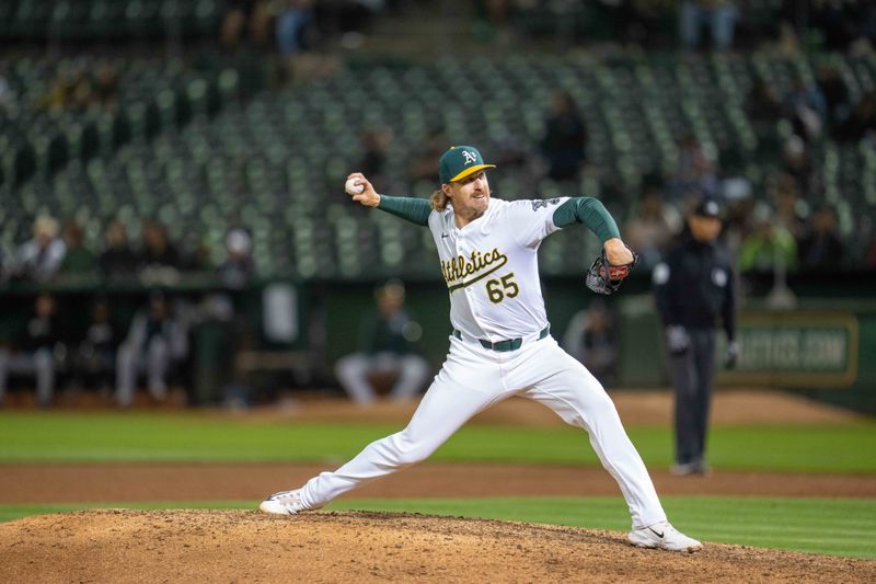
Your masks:
{"label": "seated person in dark green top and white pants, left of pitcher's waist", "polygon": [[416,396],[429,377],[426,359],[414,348],[423,330],[404,309],[402,283],[391,280],[378,288],[374,296],[378,310],[360,323],[359,351],[342,357],[335,366],[341,385],[359,405],[377,400],[369,375],[397,375],[390,396],[399,400]]}

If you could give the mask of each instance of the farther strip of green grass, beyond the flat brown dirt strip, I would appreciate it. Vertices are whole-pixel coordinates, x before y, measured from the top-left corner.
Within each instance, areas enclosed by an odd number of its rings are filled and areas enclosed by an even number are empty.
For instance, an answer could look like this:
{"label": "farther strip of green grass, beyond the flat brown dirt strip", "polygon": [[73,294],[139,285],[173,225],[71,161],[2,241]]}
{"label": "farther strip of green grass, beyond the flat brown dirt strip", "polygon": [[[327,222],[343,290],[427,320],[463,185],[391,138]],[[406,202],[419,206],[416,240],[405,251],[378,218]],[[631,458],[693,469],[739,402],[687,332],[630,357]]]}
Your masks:
{"label": "farther strip of green grass, beyond the flat brown dirt strip", "polygon": [[[1,413],[0,462],[334,461],[402,427],[204,414]],[[647,465],[670,463],[668,427],[627,430]],[[466,426],[433,459],[599,463],[587,435],[572,427]],[[710,460],[723,469],[876,473],[876,423],[716,427]]]}

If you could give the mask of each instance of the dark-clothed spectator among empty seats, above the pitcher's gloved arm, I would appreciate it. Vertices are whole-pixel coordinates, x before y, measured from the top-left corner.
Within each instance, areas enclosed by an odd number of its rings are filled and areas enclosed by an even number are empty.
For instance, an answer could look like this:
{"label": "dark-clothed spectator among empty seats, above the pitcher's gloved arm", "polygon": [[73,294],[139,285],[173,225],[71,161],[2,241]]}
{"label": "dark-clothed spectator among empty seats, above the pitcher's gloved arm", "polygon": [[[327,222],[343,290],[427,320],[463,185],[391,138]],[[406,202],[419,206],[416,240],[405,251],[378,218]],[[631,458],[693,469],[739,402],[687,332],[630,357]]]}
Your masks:
{"label": "dark-clothed spectator among empty seats, above the pitcher's gloved arm", "polygon": [[587,128],[575,101],[565,91],[556,92],[541,140],[548,175],[554,181],[577,181],[586,161],[586,148]]}

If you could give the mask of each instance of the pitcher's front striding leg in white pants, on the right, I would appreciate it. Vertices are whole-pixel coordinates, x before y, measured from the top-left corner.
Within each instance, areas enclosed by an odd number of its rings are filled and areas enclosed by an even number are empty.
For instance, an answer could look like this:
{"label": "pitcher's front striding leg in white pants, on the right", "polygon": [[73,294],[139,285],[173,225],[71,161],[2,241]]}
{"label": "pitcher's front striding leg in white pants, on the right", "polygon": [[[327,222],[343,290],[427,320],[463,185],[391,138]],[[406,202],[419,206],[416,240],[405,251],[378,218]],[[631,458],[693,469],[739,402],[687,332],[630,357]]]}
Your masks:
{"label": "pitcher's front striding leg in white pants, on the right", "polygon": [[546,358],[551,359],[556,374],[539,381],[523,394],[551,408],[567,424],[587,431],[599,460],[621,488],[633,527],[666,520],[648,470],[626,436],[618,410],[602,386],[580,363],[558,347]]}

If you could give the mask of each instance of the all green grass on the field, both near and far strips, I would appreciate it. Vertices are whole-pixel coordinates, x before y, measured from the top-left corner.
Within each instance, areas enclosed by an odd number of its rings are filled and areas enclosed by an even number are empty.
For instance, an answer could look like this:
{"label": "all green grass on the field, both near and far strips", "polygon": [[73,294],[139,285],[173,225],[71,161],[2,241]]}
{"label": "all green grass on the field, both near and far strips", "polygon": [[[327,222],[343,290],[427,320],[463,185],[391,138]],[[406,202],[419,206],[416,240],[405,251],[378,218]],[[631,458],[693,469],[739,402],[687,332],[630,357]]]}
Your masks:
{"label": "all green grass on the field, both near and far strips", "polygon": [[[339,461],[403,424],[254,422],[203,413],[0,413],[2,463],[126,461]],[[669,428],[629,428],[646,463],[670,462]],[[876,480],[876,423],[788,427],[716,427],[711,460],[719,469],[848,472]],[[443,461],[596,466],[574,428],[468,426],[433,457]],[[876,559],[876,500],[668,496],[679,527],[708,541]],[[2,505],[0,520],[90,507],[254,508],[255,501],[148,505]],[[328,508],[406,511],[624,530],[616,497],[342,499]]]}

